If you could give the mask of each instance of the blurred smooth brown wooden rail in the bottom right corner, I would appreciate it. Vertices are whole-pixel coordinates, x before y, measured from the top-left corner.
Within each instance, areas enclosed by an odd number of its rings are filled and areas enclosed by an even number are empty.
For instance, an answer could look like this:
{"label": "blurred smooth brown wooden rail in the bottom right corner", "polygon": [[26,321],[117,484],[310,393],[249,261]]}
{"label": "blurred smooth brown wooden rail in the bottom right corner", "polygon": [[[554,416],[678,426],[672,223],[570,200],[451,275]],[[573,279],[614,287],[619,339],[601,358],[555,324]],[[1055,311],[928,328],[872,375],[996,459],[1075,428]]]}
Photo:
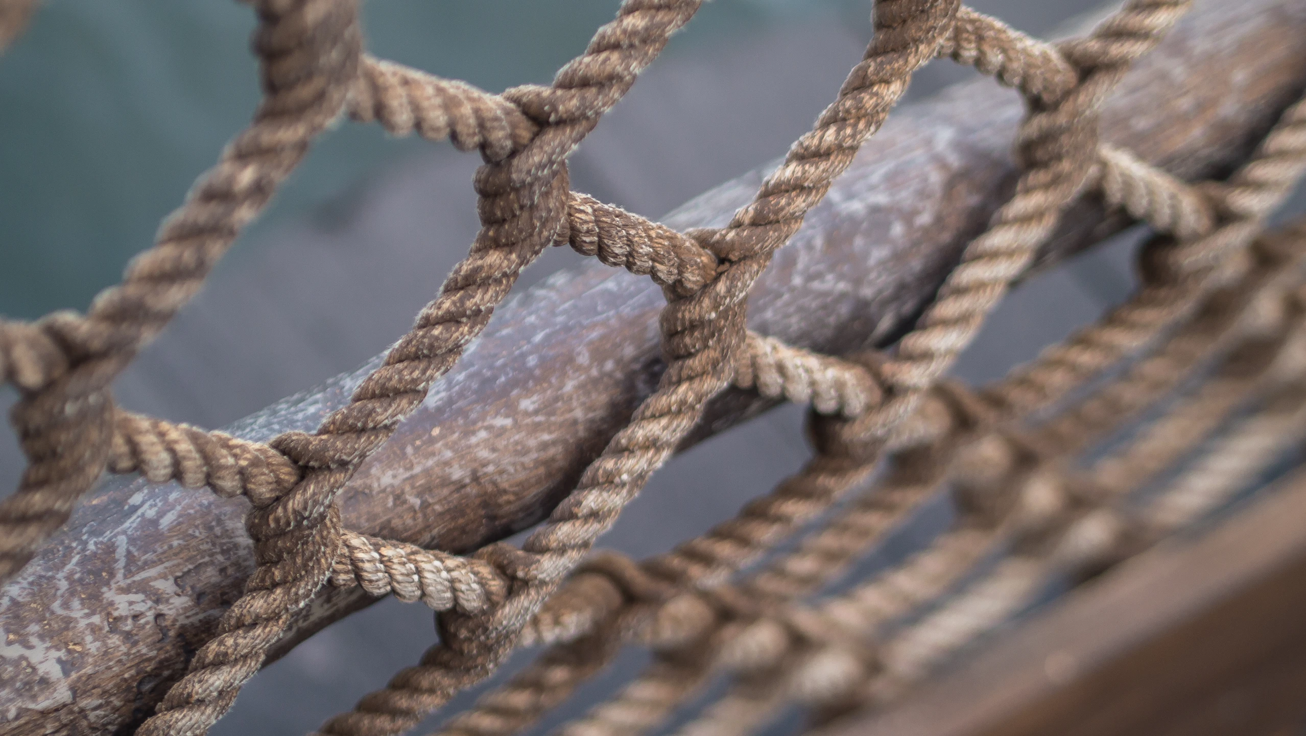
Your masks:
{"label": "blurred smooth brown wooden rail in the bottom right corner", "polygon": [[[1306,724],[1306,474],[823,736],[1254,736]],[[1296,729],[1290,731],[1298,732]]]}

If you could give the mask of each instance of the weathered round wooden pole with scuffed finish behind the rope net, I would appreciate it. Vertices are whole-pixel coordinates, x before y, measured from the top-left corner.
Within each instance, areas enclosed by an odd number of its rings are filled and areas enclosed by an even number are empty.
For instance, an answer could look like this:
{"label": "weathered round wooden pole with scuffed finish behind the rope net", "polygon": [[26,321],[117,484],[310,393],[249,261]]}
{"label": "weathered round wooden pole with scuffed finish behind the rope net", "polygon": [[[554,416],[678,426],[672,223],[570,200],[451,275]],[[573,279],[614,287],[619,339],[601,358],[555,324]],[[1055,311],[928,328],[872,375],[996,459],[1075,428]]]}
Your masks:
{"label": "weathered round wooden pole with scuffed finish behind the rope net", "polygon": [[[1106,137],[1185,176],[1246,157],[1306,86],[1306,3],[1199,3],[1110,103]],[[930,298],[1013,183],[1013,93],[980,81],[901,111],[759,282],[751,324],[828,352],[884,345]],[[760,174],[669,218],[720,224]],[[1043,262],[1118,230],[1076,207]],[[601,266],[500,311],[464,361],[345,489],[357,530],[470,549],[538,521],[648,394],[661,368],[646,281]],[[311,429],[362,373],[239,423],[265,438]],[[765,408],[722,397],[699,437]],[[137,720],[252,572],[243,505],[108,480],[0,596],[0,733],[111,731]],[[368,602],[324,595],[287,646]]]}

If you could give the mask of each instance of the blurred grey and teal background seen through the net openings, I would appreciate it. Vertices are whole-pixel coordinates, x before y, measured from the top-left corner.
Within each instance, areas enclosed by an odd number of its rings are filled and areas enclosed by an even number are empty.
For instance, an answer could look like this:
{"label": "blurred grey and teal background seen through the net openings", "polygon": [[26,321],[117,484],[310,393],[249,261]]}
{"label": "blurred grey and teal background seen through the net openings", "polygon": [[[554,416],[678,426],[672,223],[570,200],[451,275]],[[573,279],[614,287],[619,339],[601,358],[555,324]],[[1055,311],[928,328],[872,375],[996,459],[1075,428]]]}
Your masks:
{"label": "blurred grey and teal background seen through the net openings", "polygon": [[[1096,3],[972,5],[1046,37]],[[502,90],[549,82],[616,7],[371,0],[364,23],[377,56]],[[708,3],[572,158],[573,189],[658,218],[781,155],[861,57],[868,13],[867,0]],[[229,0],[44,3],[0,57],[0,313],[34,318],[84,309],[150,244],[159,219],[253,111],[252,29],[248,8]],[[909,99],[969,74],[930,65]],[[447,145],[342,124],[316,145],[196,303],[121,377],[118,399],[136,411],[223,427],[385,350],[475,234],[470,179],[478,163]],[[1023,286],[959,373],[1000,373],[1122,299],[1132,283],[1130,247],[1131,239],[1121,239]],[[567,249],[551,249],[520,288],[576,262]],[[1051,292],[1062,309],[1019,308]],[[12,393],[0,398],[13,401]],[[709,454],[738,459],[722,466]],[[801,412],[773,411],[677,458],[606,543],[635,555],[665,549],[697,532],[697,519],[727,517],[806,455]],[[21,467],[5,429],[3,493]],[[691,475],[692,485],[684,482]],[[383,600],[260,673],[214,733],[311,731],[414,663],[432,641],[424,607]],[[622,667],[637,664],[628,658]]]}

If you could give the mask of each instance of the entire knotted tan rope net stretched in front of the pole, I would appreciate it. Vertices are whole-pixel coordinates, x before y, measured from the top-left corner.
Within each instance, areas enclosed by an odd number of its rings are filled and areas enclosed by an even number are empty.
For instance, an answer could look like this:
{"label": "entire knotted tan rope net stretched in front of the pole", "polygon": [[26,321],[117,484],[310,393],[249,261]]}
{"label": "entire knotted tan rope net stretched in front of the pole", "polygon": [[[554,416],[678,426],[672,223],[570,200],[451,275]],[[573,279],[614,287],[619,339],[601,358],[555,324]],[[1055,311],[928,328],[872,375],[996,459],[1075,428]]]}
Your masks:
{"label": "entire knotted tan rope net stretched in front of the pole", "polygon": [[[730,688],[680,733],[750,733],[793,703],[823,723],[901,697],[1054,575],[1079,578],[1145,549],[1306,436],[1306,222],[1264,232],[1306,170],[1306,103],[1285,110],[1224,181],[1179,181],[1097,134],[1113,86],[1187,1],[1131,0],[1083,38],[1049,44],[957,0],[879,0],[863,60],[812,130],[726,227],[688,232],[571,192],[567,157],[699,1],[627,0],[551,86],[503,94],[368,56],[357,0],[251,4],[264,99],[249,127],[85,314],[0,321],[0,380],[21,393],[12,419],[29,459],[18,492],[0,504],[0,578],[31,559],[106,470],[249,501],[257,572],[138,733],[204,733],[326,585],[421,600],[440,615],[439,643],[421,663],[321,733],[404,732],[515,649],[543,647],[441,731],[515,733],[631,642],[654,652],[652,664],[560,733],[653,729],[722,672]],[[31,5],[0,5],[0,40]],[[754,281],[935,57],[1024,95],[1010,201],[892,351],[819,355],[748,331]],[[116,407],[114,377],[341,114],[449,140],[486,162],[474,181],[482,228],[411,331],[313,433],[251,442]],[[1155,231],[1138,291],[993,385],[944,378],[1085,196]],[[520,547],[461,556],[342,529],[336,496],[359,463],[481,334],[517,274],[562,244],[663,288],[667,369],[657,390]],[[810,405],[810,462],[663,555],[590,553],[731,385]],[[1140,418],[1149,419],[1122,449],[1080,462]],[[1192,467],[1168,474],[1198,450]],[[1139,500],[1140,488],[1153,492]],[[814,598],[939,495],[959,512],[932,544]]]}

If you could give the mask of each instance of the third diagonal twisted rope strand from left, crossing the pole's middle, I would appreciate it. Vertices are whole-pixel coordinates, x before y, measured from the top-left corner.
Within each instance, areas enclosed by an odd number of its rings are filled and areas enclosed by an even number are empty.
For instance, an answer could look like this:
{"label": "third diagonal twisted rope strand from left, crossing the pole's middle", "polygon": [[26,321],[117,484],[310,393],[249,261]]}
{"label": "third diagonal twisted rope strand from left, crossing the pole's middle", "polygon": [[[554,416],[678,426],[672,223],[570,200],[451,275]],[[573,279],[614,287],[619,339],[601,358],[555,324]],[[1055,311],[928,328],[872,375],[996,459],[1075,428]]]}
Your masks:
{"label": "third diagonal twisted rope strand from left, crossing the pole's middle", "polygon": [[[666,461],[697,422],[707,399],[725,388],[733,355],[743,338],[743,301],[748,287],[771,253],[793,235],[807,209],[824,194],[829,181],[846,168],[866,136],[883,123],[905,89],[906,77],[934,55],[956,5],[936,0],[876,5],[876,39],[867,60],[854,69],[840,91],[840,99],[821,115],[812,133],[799,138],[786,163],[763,184],[757,200],[737,213],[731,226],[722,231],[724,240],[701,235],[709,249],[729,262],[703,290],[667,304],[662,331],[671,360],[660,388],[586,468],[576,491],[522,544],[530,561],[518,574],[529,582],[488,616],[443,620],[444,643],[430,650],[421,667],[401,672],[385,690],[366,697],[354,713],[328,722],[324,731],[345,736],[407,728],[419,714],[448,699],[451,681],[481,679],[505,656],[518,632],[565,572],[611,526],[648,475]],[[615,48],[607,46],[609,35],[601,30],[592,48]],[[569,80],[590,64],[568,67],[559,73],[559,80]],[[551,117],[568,112],[565,103],[546,111],[538,107],[538,100],[522,98],[520,102],[534,117],[543,117],[545,112]],[[781,219],[768,222],[772,213]],[[729,235],[743,228],[750,230],[747,240]],[[743,251],[731,252],[722,248],[725,241],[747,244]]]}

